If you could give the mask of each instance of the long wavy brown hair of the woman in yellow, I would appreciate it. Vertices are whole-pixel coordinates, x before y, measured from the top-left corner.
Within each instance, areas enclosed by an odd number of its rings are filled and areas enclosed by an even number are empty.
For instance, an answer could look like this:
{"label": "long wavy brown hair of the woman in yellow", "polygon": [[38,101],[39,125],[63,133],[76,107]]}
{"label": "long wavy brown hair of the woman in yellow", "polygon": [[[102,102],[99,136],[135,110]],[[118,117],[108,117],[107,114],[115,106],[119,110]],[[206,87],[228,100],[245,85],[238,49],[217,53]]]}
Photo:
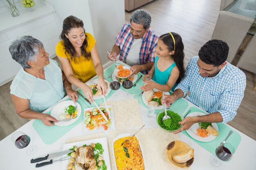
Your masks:
{"label": "long wavy brown hair of the woman in yellow", "polygon": [[[71,57],[71,59],[76,58],[76,51],[74,49],[74,46],[71,44],[70,40],[66,37],[65,34],[68,34],[72,28],[83,28],[83,21],[79,18],[76,18],[73,15],[70,15],[69,17],[65,18],[63,21],[62,31],[60,38],[64,41],[64,48],[65,53],[68,53]],[[83,28],[83,31],[85,32],[85,29]],[[85,40],[83,41],[83,44],[81,46],[81,55],[82,57],[85,57],[85,59],[90,60],[91,53],[86,51],[86,48],[88,46],[87,43],[87,35],[85,34]]]}

